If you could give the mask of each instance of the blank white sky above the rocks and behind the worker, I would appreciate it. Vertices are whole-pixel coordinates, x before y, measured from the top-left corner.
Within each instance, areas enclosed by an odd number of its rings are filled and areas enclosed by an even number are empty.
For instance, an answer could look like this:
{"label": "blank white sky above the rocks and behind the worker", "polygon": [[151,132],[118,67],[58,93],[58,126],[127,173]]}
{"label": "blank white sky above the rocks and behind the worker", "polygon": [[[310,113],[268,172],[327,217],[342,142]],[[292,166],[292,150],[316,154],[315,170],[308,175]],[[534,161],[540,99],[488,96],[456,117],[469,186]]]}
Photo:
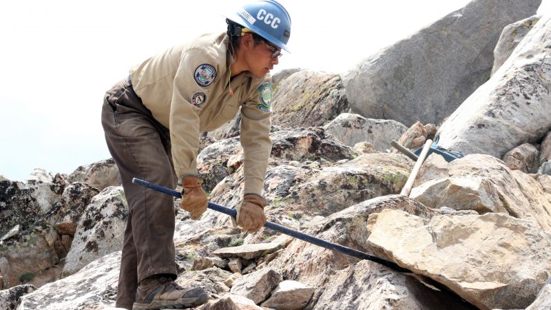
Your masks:
{"label": "blank white sky above the rocks and behind the worker", "polygon": [[[289,48],[274,72],[346,72],[468,0],[280,0],[291,14]],[[110,158],[103,94],[128,69],[181,41],[225,31],[236,1],[2,1],[0,174],[36,167],[71,173]],[[549,12],[543,0],[539,13]],[[272,73],[274,73],[272,72]]]}

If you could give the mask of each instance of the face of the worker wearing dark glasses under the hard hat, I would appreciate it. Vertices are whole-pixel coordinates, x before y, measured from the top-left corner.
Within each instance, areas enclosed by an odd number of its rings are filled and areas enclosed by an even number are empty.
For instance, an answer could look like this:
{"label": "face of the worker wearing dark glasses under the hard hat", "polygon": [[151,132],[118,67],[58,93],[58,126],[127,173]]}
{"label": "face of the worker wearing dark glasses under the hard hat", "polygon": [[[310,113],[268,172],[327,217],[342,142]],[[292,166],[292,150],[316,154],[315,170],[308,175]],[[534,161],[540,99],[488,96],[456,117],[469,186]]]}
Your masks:
{"label": "face of the worker wearing dark glasses under the hard hat", "polygon": [[252,34],[247,34],[247,36],[250,37],[250,39],[245,38],[247,43],[249,43],[247,53],[249,72],[260,79],[269,73],[274,65],[279,63],[278,59],[281,55],[281,49],[263,40],[255,44]]}

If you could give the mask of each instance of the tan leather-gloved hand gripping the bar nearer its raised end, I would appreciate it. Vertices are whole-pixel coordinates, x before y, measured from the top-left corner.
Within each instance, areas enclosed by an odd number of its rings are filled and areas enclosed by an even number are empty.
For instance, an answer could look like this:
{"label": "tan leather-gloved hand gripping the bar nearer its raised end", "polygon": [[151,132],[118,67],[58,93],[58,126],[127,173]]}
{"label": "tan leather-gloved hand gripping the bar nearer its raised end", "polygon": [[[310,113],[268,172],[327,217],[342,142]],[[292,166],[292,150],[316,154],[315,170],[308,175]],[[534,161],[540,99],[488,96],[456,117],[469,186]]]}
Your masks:
{"label": "tan leather-gloved hand gripping the bar nearer its raised end", "polygon": [[207,193],[202,190],[201,181],[195,176],[186,176],[182,183],[183,192],[180,208],[191,212],[192,220],[198,220],[203,212],[207,210],[209,204]]}

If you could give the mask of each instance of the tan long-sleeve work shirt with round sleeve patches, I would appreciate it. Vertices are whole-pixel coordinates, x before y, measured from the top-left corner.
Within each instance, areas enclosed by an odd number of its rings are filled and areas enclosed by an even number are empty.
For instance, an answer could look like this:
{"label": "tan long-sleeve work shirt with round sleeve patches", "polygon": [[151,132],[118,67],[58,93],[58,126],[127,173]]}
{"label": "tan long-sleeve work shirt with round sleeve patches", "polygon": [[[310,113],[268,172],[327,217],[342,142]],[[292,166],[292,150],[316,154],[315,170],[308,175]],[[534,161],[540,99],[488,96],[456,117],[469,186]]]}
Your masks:
{"label": "tan long-sleeve work shirt with round sleeve patches", "polygon": [[216,130],[241,107],[245,193],[262,194],[271,152],[271,81],[246,72],[231,79],[226,34],[205,34],[130,70],[134,91],[169,128],[176,175],[197,175],[200,132]]}

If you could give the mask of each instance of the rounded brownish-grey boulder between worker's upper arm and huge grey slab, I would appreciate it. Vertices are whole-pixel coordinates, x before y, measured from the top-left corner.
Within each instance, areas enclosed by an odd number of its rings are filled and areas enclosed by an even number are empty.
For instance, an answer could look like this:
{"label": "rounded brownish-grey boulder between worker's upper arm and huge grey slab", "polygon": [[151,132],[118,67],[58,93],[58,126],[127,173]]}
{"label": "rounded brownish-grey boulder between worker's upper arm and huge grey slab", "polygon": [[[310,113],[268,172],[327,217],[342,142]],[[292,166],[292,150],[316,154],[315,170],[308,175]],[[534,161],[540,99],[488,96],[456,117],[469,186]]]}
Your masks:
{"label": "rounded brownish-grey boulder between worker's upper arm and huge grey slab", "polygon": [[283,129],[324,125],[349,110],[338,74],[304,70],[284,79],[272,99],[272,122]]}

